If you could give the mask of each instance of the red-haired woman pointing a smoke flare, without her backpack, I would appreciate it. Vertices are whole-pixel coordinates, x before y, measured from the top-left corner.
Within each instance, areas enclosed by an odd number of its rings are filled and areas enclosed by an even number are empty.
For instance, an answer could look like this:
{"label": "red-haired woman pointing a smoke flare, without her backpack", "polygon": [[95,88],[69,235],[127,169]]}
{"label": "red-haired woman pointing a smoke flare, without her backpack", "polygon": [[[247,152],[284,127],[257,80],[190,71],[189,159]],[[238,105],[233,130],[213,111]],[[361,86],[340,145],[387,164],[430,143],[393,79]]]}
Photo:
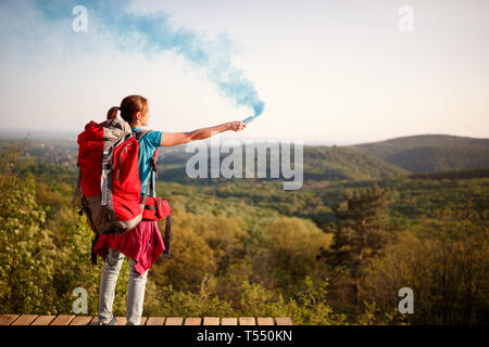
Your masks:
{"label": "red-haired woman pointing a smoke flare, without her backpack", "polygon": [[[130,125],[133,131],[137,131],[142,126],[148,126],[150,113],[148,101],[145,98],[140,95],[124,98],[121,106],[109,110],[108,119],[115,118],[117,111],[121,112],[121,117]],[[240,131],[244,128],[246,125],[242,121],[229,121],[215,127],[197,129],[189,132],[149,132],[139,142],[138,160],[141,196],[145,194],[147,184],[149,183],[151,174],[150,159],[159,146],[177,145],[195,140],[203,140],[227,130]],[[148,269],[156,261],[163,250],[164,244],[156,220],[142,220],[136,228],[121,235],[99,236],[93,246],[93,252],[103,256],[105,259],[100,277],[100,325],[115,324],[115,318],[112,314],[112,305],[115,295],[115,284],[124,256],[128,257],[129,262],[126,324],[140,324]]]}

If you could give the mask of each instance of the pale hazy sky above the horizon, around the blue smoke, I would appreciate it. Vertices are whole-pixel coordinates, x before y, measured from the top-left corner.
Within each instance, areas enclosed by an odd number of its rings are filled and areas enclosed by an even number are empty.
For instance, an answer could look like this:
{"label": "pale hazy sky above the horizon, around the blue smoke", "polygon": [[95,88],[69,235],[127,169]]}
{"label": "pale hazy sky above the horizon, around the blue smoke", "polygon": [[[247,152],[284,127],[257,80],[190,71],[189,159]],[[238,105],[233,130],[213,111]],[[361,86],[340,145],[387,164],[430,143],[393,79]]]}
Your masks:
{"label": "pale hazy sky above the horizon, around the blue smoke", "polygon": [[[88,10],[87,33],[72,29],[70,11],[50,18],[34,1],[1,1],[3,130],[82,131],[134,93],[149,99],[150,126],[163,131],[252,114],[180,54],[121,48],[124,38],[111,36],[97,7],[77,3]],[[402,5],[414,10],[412,33],[398,27]],[[265,103],[238,138],[489,137],[487,0],[140,0],[131,9],[163,11],[173,28],[202,41],[225,38],[233,66]]]}

